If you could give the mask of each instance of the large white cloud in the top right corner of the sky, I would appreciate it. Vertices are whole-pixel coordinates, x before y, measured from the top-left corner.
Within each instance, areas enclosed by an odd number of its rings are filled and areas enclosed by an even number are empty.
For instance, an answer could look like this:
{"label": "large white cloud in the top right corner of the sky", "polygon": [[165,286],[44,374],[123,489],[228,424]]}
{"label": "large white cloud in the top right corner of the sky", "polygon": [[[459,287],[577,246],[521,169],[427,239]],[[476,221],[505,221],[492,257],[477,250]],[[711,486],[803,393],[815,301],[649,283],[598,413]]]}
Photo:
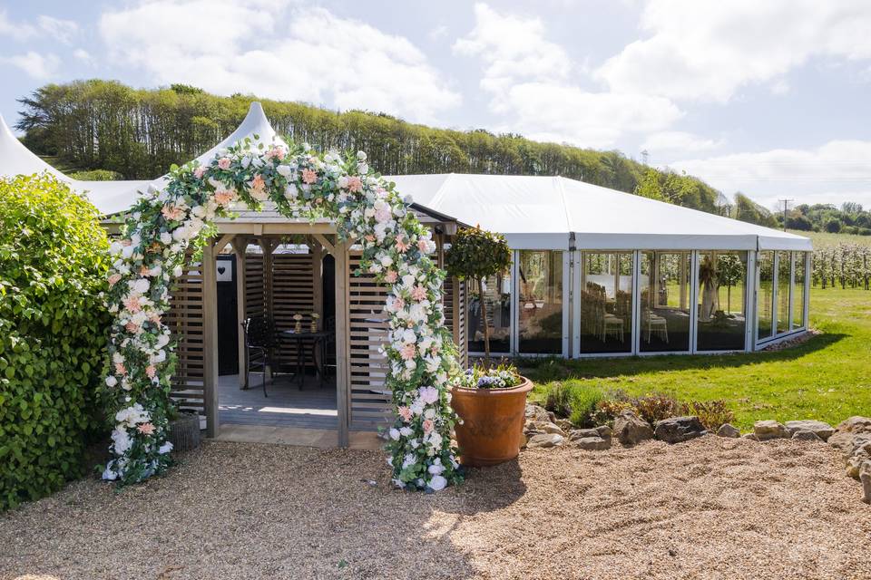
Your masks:
{"label": "large white cloud in the top right corner of the sky", "polygon": [[813,56],[871,58],[867,0],[650,0],[641,29],[597,71],[612,91],[726,102],[750,83],[783,91]]}

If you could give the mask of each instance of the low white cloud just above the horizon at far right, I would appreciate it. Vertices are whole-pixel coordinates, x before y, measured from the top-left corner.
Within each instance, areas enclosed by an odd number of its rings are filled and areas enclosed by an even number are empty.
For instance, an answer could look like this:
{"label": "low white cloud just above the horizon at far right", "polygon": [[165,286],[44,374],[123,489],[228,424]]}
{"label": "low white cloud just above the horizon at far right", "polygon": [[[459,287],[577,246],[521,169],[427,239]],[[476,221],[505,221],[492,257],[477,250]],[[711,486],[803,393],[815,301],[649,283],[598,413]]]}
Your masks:
{"label": "low white cloud just above the horizon at far right", "polygon": [[778,149],[678,161],[675,169],[731,194],[742,191],[766,207],[858,201],[871,205],[871,141],[831,140],[810,150]]}

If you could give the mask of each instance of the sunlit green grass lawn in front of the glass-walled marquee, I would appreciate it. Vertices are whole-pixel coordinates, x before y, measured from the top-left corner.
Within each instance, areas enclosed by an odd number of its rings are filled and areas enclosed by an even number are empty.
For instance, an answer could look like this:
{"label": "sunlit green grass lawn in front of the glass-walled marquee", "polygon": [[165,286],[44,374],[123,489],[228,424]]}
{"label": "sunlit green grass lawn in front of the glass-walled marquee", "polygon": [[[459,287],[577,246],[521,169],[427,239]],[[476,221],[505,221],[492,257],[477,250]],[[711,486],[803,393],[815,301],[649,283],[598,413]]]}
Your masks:
{"label": "sunlit green grass lawn in front of the glass-walled marquee", "polygon": [[537,383],[538,400],[557,381],[631,395],[664,392],[680,401],[723,399],[742,430],[760,419],[837,424],[871,415],[871,292],[814,289],[810,318],[823,333],[780,352],[548,359],[522,372]]}

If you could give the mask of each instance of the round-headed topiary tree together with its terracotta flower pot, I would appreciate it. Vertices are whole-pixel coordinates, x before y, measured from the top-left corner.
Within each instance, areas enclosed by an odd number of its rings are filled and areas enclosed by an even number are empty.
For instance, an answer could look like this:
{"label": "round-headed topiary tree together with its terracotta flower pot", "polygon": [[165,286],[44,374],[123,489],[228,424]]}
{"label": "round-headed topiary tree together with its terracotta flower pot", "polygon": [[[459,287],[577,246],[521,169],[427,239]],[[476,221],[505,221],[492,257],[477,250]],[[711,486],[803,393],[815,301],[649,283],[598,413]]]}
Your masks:
{"label": "round-headed topiary tree together with its terracotta flower pot", "polygon": [[513,366],[490,366],[490,324],[484,279],[511,266],[505,238],[479,227],[460,230],[445,256],[450,275],[477,282],[484,324],[484,362],[460,375],[451,389],[451,406],[460,416],[455,426],[460,461],[469,466],[503,463],[520,453],[526,395],[533,383]]}

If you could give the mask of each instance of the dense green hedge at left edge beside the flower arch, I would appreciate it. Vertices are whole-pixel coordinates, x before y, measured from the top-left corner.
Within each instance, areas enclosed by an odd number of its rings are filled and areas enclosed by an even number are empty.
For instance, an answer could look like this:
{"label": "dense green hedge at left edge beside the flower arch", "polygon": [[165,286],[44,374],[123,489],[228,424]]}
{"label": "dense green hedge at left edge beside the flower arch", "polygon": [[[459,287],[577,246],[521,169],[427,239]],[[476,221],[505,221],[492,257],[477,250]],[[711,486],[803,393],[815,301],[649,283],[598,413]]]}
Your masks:
{"label": "dense green hedge at left edge beside the flower arch", "polygon": [[102,420],[107,248],[64,184],[0,179],[0,509],[82,475]]}

